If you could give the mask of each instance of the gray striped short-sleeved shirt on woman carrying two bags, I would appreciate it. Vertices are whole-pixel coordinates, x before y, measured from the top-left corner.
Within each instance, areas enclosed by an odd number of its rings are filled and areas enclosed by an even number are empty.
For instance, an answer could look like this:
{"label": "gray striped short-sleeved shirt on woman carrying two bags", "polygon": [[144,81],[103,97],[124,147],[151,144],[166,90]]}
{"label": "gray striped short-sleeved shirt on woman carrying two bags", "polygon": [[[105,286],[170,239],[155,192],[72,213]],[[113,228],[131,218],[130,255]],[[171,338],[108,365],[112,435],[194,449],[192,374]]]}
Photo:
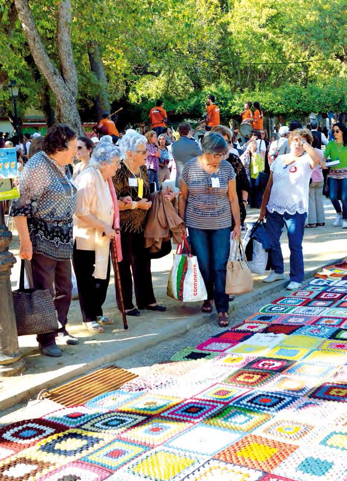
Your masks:
{"label": "gray striped short-sleeved shirt on woman carrying two bags", "polygon": [[[212,178],[219,179],[219,187],[212,187]],[[197,229],[224,229],[232,226],[232,209],[227,195],[228,182],[235,179],[233,167],[221,161],[218,172],[209,174],[198,158],[187,162],[182,179],[189,189],[185,222]],[[213,181],[214,185],[215,182]]]}

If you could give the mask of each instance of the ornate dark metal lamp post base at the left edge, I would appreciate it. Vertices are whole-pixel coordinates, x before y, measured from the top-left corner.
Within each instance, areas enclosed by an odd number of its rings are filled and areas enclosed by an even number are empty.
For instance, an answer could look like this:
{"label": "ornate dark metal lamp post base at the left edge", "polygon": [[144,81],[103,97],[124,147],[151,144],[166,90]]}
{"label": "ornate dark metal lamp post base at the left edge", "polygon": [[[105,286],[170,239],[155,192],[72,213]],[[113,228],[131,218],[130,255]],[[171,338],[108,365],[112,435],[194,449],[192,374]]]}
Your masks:
{"label": "ornate dark metal lamp post base at the left edge", "polygon": [[0,377],[16,376],[25,369],[19,350],[11,290],[11,269],[16,257],[9,251],[12,232],[5,225],[4,203],[0,201]]}

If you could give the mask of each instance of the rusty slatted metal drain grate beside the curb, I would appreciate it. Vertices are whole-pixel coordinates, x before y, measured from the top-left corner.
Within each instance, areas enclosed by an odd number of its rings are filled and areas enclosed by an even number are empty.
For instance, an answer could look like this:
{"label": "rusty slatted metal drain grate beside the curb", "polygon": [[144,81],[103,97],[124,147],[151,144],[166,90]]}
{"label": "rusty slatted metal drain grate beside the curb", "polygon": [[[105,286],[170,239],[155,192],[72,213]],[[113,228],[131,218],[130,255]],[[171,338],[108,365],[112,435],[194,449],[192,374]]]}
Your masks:
{"label": "rusty slatted metal drain grate beside the curb", "polygon": [[59,388],[43,392],[40,397],[66,407],[76,406],[84,404],[99,394],[119,389],[123,384],[137,377],[134,372],[117,366],[101,367]]}

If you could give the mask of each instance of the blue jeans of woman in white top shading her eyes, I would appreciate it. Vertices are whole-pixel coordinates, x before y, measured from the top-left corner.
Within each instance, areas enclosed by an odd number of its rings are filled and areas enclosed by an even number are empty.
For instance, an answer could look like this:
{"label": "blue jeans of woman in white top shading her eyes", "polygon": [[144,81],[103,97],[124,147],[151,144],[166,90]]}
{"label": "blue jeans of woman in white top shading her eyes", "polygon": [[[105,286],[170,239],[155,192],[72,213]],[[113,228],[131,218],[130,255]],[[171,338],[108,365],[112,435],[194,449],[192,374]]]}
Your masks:
{"label": "blue jeans of woman in white top shading her eyes", "polygon": [[306,217],[306,212],[303,214],[296,212],[294,215],[290,215],[287,212],[279,214],[276,211],[272,213],[267,211],[266,218],[266,233],[272,243],[272,248],[269,252],[272,269],[276,274],[283,274],[284,272],[283,255],[279,239],[285,226],[291,251],[290,278],[291,281],[299,283],[304,280],[303,238]]}

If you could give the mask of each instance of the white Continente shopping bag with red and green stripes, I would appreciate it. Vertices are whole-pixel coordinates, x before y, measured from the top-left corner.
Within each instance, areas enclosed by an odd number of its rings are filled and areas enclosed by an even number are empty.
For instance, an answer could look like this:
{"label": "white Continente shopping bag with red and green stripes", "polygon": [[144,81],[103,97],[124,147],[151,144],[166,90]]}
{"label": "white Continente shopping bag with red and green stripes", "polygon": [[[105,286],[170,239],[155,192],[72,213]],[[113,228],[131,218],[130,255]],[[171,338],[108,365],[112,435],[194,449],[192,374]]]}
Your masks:
{"label": "white Continente shopping bag with red and green stripes", "polygon": [[[183,245],[186,254],[182,254]],[[180,250],[180,252],[178,252]],[[207,291],[201,276],[198,259],[192,255],[186,237],[174,254],[174,263],[167,282],[167,295],[183,302],[204,301]]]}

